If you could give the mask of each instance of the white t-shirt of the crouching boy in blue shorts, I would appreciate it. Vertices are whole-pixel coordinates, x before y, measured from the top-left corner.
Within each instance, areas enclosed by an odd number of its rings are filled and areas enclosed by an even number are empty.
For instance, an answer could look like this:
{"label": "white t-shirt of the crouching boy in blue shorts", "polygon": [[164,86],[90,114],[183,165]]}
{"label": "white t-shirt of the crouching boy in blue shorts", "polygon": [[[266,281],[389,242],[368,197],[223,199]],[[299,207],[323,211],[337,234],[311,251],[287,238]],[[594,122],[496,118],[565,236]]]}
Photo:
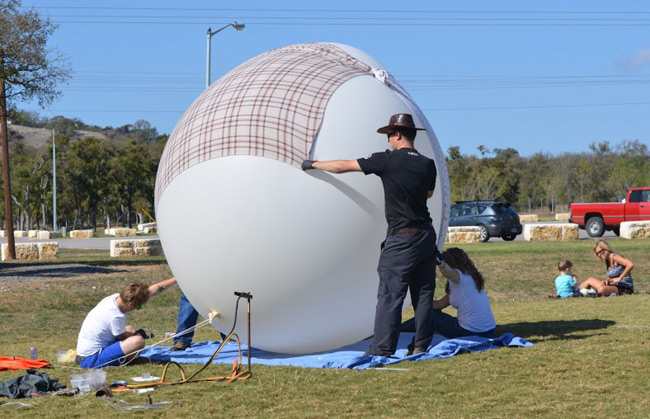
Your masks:
{"label": "white t-shirt of the crouching boy in blue shorts", "polygon": [[104,298],[86,316],[77,339],[80,356],[92,355],[112,345],[126,331],[126,313],[122,313],[116,301],[119,295]]}

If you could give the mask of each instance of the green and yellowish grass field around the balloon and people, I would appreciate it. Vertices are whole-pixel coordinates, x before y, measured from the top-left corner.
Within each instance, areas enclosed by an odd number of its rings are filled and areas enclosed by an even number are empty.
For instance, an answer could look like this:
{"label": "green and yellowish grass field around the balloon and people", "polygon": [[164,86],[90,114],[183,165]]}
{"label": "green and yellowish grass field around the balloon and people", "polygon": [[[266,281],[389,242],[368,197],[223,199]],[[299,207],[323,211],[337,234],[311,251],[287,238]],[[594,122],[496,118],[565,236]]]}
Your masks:
{"label": "green and yellowish grass field around the balloon and people", "polygon": [[[611,240],[636,263],[636,294],[613,298],[552,300],[558,260],[574,264],[578,279],[602,277],[604,266],[593,256],[593,242],[488,242],[463,245],[486,277],[497,320],[497,334],[511,332],[535,344],[502,348],[449,359],[403,362],[407,371],[320,370],[253,365],[253,377],[233,384],[196,383],[165,387],[156,401],[178,402],[159,417],[648,417],[650,400],[650,239]],[[170,276],[163,259],[111,260],[101,252],[62,251],[59,262],[100,264],[115,269],[76,279],[0,281],[0,355],[39,357],[56,363],[56,352],[73,348],[77,332],[94,305],[132,281],[154,282]],[[0,265],[2,269],[3,265]],[[5,265],[6,266],[6,265]],[[0,274],[1,275],[1,274]],[[438,293],[444,282],[438,281]],[[153,299],[129,314],[129,323],[157,336],[176,328],[180,291]],[[254,307],[253,307],[254,308]],[[453,310],[450,311],[453,313]],[[405,316],[412,315],[409,309]],[[211,328],[195,341],[219,339]],[[254,335],[253,335],[254,339]],[[157,339],[155,339],[157,340]],[[199,366],[189,366],[192,372]],[[107,381],[129,380],[158,364],[107,368]],[[227,375],[213,366],[207,375]],[[56,366],[51,377],[67,382],[80,370]],[[6,381],[20,371],[0,372]],[[146,395],[120,393],[131,404]],[[0,399],[0,403],[8,402]],[[2,417],[117,417],[91,395],[22,399],[31,408],[0,406]],[[152,415],[152,411],[131,412]]]}

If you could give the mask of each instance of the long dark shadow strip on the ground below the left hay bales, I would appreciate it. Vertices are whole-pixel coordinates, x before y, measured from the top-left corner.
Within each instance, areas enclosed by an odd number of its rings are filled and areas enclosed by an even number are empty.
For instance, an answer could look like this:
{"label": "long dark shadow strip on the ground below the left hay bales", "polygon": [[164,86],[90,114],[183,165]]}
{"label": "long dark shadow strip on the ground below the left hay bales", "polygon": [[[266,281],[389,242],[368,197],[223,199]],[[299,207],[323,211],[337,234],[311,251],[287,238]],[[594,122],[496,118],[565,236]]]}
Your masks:
{"label": "long dark shadow strip on the ground below the left hay bales", "polygon": [[22,264],[0,263],[0,282],[9,281],[38,281],[43,279],[74,278],[90,274],[110,274],[123,272],[121,269],[111,269],[103,266],[69,264]]}

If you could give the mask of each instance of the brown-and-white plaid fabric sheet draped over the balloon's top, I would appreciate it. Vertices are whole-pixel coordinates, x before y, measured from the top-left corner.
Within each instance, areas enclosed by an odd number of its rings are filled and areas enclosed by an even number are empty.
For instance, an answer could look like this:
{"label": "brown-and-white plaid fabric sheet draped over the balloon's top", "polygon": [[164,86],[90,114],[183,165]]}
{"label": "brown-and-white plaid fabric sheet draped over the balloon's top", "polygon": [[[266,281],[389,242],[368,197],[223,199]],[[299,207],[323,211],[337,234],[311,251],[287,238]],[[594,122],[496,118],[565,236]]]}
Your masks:
{"label": "brown-and-white plaid fabric sheet draped over the balloon's top", "polygon": [[183,114],[163,152],[156,207],[169,183],[210,159],[250,155],[300,167],[334,91],[372,69],[335,45],[291,45],[259,55],[210,86]]}

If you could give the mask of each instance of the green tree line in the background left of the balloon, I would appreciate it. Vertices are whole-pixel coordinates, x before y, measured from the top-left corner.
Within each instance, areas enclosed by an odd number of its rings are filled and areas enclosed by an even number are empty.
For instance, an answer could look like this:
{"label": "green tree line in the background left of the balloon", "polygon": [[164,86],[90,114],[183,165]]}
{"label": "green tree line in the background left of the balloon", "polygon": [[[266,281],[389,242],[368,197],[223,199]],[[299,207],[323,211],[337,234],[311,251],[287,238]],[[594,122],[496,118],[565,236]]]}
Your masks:
{"label": "green tree line in the background left of the balloon", "polygon": [[[132,227],[147,221],[146,214],[154,216],[156,172],[167,136],[148,122],[99,128],[61,116],[41,119],[28,112],[15,112],[12,121],[55,130],[57,227]],[[80,136],[80,129],[97,135]],[[12,131],[9,158],[13,225],[19,230],[51,229],[52,145],[29,146]],[[0,221],[4,228],[5,217]]]}

